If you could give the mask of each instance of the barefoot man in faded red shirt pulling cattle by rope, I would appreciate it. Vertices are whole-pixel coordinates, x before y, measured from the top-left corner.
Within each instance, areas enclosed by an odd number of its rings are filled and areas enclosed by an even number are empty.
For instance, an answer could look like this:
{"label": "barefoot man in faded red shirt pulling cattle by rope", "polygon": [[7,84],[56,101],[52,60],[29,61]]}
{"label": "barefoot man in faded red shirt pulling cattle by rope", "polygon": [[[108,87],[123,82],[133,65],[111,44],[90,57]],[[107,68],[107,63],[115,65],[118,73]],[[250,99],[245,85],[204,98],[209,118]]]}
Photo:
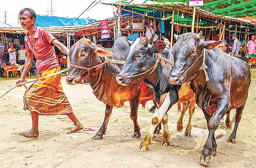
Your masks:
{"label": "barefoot man in faded red shirt pulling cattle by rope", "polygon": [[[52,36],[49,31],[36,27],[35,21],[35,11],[30,8],[24,8],[20,11],[20,24],[22,28],[28,30],[24,38],[27,58],[20,80],[16,84],[25,80],[26,74],[32,65],[32,54],[36,58],[38,78],[42,78],[60,71],[53,46],[56,46],[66,55],[69,52],[68,48]],[[67,133],[84,128],[73,113],[68,98],[63,92],[60,78],[61,74],[58,74],[38,80],[26,89],[23,96],[24,109],[31,113],[32,128],[27,132],[20,133],[20,135],[27,138],[38,137],[38,115],[66,114],[75,124],[75,127]]]}

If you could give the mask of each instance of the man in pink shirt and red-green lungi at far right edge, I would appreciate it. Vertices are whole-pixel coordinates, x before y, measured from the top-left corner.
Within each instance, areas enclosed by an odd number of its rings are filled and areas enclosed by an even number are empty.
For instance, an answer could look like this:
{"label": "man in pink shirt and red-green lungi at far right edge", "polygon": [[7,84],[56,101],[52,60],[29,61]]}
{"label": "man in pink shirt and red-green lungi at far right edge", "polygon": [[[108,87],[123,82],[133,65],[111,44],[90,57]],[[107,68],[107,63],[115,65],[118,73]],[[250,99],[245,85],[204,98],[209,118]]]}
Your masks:
{"label": "man in pink shirt and red-green lungi at far right edge", "polygon": [[255,57],[256,57],[256,53],[255,53],[255,36],[252,35],[251,36],[251,40],[248,41],[247,45],[246,45],[246,55],[248,55],[249,60],[248,60],[248,65],[251,68],[254,68],[252,66],[252,64],[255,61]]}

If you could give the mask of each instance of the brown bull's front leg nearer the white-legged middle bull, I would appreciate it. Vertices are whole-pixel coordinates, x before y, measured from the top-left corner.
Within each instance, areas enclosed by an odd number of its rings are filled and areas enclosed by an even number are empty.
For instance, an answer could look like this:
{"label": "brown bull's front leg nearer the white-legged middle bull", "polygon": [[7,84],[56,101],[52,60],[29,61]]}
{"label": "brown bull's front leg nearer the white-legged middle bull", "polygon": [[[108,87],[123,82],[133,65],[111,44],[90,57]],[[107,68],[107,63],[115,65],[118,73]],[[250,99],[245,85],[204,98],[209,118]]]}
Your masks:
{"label": "brown bull's front leg nearer the white-legged middle bull", "polygon": [[135,96],[132,98],[132,100],[130,100],[130,107],[131,107],[130,117],[134,124],[134,132],[133,132],[132,138],[136,138],[136,139],[140,138],[140,127],[137,122],[139,100],[140,100],[139,96]]}

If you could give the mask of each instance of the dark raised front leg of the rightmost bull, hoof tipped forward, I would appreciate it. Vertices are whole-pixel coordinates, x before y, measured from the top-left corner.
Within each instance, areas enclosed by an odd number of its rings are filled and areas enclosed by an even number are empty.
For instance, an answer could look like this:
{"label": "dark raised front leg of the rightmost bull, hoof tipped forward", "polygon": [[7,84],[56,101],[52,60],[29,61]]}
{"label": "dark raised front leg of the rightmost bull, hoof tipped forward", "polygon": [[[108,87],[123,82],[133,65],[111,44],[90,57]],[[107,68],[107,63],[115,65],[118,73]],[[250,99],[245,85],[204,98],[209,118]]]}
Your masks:
{"label": "dark raised front leg of the rightmost bull, hoof tipped forward", "polygon": [[[214,132],[218,128],[221,118],[226,114],[229,108],[230,108],[230,103],[228,98],[221,99],[218,103],[216,112],[214,113],[214,115],[212,115],[212,117],[208,122],[209,135],[206,142],[204,143],[204,149],[202,150],[202,154],[200,156],[200,161],[204,165],[208,165],[212,162],[212,151],[213,151],[212,143],[213,143]],[[208,116],[205,114],[205,112],[204,112],[204,115],[207,120]],[[217,148],[217,144],[216,146],[214,146],[214,148]]]}

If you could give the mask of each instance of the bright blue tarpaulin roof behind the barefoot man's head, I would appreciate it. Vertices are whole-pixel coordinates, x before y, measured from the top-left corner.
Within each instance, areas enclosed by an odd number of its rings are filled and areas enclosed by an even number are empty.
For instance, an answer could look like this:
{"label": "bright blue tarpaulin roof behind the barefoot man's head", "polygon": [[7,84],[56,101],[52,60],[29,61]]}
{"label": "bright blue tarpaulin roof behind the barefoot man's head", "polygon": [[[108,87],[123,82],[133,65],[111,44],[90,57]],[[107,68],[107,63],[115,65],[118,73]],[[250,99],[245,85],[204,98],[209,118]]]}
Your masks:
{"label": "bright blue tarpaulin roof behind the barefoot man's head", "polygon": [[76,18],[36,15],[35,25],[40,26],[40,27],[79,26],[79,25],[83,25],[83,24],[95,21],[94,19],[79,19],[78,18],[74,23],[72,23],[75,19]]}

